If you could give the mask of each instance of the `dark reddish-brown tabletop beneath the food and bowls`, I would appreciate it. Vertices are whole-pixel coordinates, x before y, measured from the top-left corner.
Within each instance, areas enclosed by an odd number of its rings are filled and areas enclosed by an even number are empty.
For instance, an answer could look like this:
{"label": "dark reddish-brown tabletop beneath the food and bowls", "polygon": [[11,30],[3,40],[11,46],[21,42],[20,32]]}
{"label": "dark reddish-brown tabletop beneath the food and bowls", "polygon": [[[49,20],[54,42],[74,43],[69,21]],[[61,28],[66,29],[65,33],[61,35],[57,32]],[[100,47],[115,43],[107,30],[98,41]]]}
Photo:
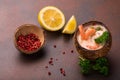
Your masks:
{"label": "dark reddish-brown tabletop beneath the food and bowls", "polygon": [[[45,31],[45,45],[33,56],[23,55],[15,48],[16,28],[22,24],[40,27],[38,12],[48,5],[61,9],[66,21],[75,15],[78,25],[96,20],[108,26],[113,38],[107,56],[111,68],[109,76],[80,73],[73,35]],[[119,30],[120,0],[0,0],[0,80],[120,80]],[[53,65],[49,64],[50,58]],[[60,73],[60,68],[65,70],[66,76]]]}

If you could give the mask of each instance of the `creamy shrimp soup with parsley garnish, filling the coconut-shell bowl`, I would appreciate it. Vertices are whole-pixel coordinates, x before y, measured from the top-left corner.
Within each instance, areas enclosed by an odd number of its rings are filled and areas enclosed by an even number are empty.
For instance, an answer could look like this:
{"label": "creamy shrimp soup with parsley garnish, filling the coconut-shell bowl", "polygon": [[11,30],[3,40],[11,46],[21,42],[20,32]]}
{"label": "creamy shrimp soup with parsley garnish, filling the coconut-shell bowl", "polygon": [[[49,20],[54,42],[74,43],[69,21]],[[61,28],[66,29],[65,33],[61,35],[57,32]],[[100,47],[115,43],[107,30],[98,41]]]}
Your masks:
{"label": "creamy shrimp soup with parsley garnish, filling the coconut-shell bowl", "polygon": [[79,45],[85,49],[98,50],[105,45],[104,38],[107,39],[107,36],[105,36],[107,32],[107,29],[100,24],[85,27],[80,25],[77,40]]}

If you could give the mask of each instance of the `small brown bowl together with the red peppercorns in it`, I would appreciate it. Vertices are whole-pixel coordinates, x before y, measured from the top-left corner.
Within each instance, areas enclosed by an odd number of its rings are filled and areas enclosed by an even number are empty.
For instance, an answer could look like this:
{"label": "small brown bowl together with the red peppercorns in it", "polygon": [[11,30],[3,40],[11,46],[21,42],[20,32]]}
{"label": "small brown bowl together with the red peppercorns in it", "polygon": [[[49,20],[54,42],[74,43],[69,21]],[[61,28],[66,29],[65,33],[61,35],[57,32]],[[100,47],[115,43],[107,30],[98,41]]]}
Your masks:
{"label": "small brown bowl together with the red peppercorns in it", "polygon": [[33,24],[24,24],[18,27],[14,35],[15,47],[25,54],[38,52],[44,41],[43,30]]}

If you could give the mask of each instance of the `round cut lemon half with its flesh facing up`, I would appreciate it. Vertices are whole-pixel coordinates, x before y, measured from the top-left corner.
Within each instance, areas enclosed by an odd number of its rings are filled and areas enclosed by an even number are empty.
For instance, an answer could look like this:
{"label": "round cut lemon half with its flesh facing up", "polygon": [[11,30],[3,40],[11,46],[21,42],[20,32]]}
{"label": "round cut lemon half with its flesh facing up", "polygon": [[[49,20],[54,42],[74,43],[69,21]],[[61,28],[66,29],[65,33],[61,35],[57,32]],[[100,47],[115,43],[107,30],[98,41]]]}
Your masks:
{"label": "round cut lemon half with its flesh facing up", "polygon": [[54,6],[47,6],[40,10],[38,22],[49,31],[58,31],[65,24],[65,17],[62,11]]}

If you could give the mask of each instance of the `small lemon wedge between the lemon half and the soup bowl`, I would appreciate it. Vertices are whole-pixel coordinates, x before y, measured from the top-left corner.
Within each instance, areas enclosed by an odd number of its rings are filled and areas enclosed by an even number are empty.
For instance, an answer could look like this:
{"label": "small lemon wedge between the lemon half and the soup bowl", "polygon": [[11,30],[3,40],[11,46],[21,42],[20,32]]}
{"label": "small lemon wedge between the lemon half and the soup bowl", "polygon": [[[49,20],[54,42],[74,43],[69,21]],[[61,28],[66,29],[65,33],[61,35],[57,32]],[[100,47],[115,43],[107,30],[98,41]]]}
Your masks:
{"label": "small lemon wedge between the lemon half and the soup bowl", "polygon": [[72,16],[67,24],[65,25],[65,28],[63,29],[62,33],[64,34],[73,34],[76,30],[77,22],[74,16]]}

